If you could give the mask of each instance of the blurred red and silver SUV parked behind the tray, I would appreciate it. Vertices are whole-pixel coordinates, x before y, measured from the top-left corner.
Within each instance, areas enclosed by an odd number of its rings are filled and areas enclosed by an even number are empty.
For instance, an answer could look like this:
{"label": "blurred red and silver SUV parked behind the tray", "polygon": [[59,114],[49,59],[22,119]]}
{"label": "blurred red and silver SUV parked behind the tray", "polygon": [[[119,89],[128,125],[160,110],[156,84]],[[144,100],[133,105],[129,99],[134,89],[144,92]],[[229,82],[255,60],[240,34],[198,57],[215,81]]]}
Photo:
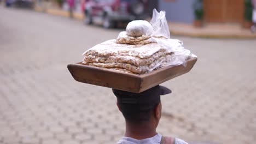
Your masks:
{"label": "blurred red and silver SUV parked behind the tray", "polygon": [[85,20],[91,25],[101,21],[104,28],[117,26],[117,22],[129,22],[147,17],[146,1],[142,0],[87,0],[85,1]]}

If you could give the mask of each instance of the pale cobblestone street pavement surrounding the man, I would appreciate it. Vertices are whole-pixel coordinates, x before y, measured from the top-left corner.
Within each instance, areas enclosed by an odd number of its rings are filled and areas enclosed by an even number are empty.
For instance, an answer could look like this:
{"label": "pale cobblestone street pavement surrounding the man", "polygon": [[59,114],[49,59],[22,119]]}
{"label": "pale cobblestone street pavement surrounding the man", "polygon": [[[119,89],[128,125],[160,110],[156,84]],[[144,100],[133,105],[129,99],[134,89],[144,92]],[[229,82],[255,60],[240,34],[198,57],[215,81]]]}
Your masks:
{"label": "pale cobblestone street pavement surrounding the man", "polygon": [[[122,29],[0,5],[0,143],[115,143],[124,118],[109,88],[73,80],[67,64]],[[199,57],[163,83],[158,131],[186,141],[256,141],[256,41],[184,41]],[[196,143],[196,142],[195,142]]]}

